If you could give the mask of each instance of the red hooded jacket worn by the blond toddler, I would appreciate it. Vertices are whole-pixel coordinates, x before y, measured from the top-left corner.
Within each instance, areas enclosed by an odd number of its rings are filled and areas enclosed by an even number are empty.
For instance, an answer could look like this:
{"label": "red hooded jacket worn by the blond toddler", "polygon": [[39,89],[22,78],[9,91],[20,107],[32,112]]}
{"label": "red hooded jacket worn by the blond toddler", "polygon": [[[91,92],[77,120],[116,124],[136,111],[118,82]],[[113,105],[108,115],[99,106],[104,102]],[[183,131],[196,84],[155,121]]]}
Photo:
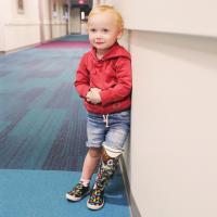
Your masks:
{"label": "red hooded jacket worn by the blond toddler", "polygon": [[[85,100],[87,111],[110,114],[127,110],[131,105],[131,58],[117,42],[98,60],[95,49],[85,53],[77,69],[75,87]],[[100,88],[100,104],[86,100],[90,88]]]}

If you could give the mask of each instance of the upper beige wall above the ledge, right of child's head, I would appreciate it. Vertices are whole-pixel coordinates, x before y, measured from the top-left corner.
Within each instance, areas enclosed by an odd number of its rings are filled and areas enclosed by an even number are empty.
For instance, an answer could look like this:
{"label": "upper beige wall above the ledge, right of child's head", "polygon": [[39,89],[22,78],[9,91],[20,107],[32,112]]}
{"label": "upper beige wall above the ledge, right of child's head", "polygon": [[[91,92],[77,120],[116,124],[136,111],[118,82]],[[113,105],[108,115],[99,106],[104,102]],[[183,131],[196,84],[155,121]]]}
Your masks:
{"label": "upper beige wall above the ledge, right of child's head", "polygon": [[[111,2],[111,0],[108,1]],[[126,27],[138,30],[217,36],[215,0],[113,0],[122,8]]]}

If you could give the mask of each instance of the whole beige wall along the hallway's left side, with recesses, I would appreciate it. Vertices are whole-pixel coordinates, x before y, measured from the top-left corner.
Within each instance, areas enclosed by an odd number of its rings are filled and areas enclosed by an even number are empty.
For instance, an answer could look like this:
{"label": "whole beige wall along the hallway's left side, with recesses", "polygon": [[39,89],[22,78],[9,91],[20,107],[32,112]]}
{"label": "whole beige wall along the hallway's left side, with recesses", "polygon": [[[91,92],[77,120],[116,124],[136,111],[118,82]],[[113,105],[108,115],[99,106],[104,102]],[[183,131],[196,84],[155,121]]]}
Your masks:
{"label": "whole beige wall along the hallway's left side, with recesses", "polygon": [[65,36],[65,1],[56,0],[56,16],[50,13],[50,2],[52,1],[24,0],[24,13],[18,13],[16,0],[0,0],[0,51],[13,51]]}

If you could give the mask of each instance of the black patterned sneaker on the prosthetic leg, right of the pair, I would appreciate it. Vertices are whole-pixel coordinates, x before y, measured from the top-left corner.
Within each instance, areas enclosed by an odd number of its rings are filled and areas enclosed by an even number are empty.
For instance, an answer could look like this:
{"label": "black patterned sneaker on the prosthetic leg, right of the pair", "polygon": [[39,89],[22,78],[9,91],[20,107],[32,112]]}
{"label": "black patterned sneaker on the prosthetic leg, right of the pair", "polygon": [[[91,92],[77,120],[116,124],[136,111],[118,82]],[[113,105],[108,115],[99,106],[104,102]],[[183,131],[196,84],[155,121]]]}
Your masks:
{"label": "black patterned sneaker on the prosthetic leg, right of the pair", "polygon": [[87,206],[90,209],[97,210],[104,205],[104,191],[95,188],[90,193],[90,199],[87,202]]}

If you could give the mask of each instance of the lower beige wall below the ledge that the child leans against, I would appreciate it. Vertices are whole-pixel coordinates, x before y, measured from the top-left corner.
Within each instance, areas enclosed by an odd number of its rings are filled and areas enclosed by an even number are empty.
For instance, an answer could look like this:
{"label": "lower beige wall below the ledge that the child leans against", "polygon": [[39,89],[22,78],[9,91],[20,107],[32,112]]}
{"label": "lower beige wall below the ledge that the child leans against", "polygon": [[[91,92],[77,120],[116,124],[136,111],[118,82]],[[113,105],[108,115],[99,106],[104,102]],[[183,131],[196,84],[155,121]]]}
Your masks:
{"label": "lower beige wall below the ledge that the child leans against", "polygon": [[133,31],[129,180],[142,216],[217,216],[217,40]]}

